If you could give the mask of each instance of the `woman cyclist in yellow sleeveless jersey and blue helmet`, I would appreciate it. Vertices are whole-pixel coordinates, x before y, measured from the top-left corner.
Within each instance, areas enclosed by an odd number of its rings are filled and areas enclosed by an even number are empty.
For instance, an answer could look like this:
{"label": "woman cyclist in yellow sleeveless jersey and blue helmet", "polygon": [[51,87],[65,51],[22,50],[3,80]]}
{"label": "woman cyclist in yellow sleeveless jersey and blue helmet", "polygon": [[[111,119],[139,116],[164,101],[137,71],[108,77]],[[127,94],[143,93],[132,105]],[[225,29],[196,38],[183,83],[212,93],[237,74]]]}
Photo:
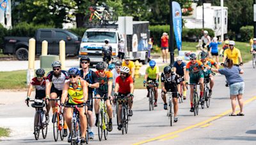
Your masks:
{"label": "woman cyclist in yellow sleeveless jersey and blue helmet", "polygon": [[[80,105],[85,103],[88,100],[88,86],[86,81],[79,79],[79,70],[76,67],[72,67],[68,70],[69,81],[65,82],[63,86],[63,93],[61,95],[61,107],[64,106],[65,101],[67,100],[67,105]],[[86,125],[87,120],[85,116],[86,110],[84,107],[79,108],[79,118],[81,125],[81,143],[85,142],[86,135]],[[67,121],[68,130],[71,132],[71,120],[73,116],[73,108],[65,107],[64,118]],[[75,128],[76,129],[76,128]],[[71,142],[71,135],[68,135],[68,142]]]}

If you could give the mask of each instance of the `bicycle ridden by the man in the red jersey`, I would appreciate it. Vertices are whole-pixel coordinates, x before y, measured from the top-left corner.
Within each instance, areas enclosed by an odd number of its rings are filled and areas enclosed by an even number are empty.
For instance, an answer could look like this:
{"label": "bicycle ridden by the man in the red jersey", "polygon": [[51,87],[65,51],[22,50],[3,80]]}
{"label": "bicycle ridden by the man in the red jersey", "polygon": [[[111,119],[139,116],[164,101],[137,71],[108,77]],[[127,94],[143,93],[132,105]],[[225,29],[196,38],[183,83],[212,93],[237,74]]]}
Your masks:
{"label": "bicycle ridden by the man in the red jersey", "polygon": [[[122,124],[122,134],[127,134],[128,132],[128,121],[129,121],[129,115],[128,115],[128,97],[126,97],[125,95],[118,95],[116,96],[116,102],[118,102],[118,104],[122,104],[122,109],[121,109],[121,124]],[[118,115],[117,117],[118,118]],[[118,123],[118,120],[117,120]]]}

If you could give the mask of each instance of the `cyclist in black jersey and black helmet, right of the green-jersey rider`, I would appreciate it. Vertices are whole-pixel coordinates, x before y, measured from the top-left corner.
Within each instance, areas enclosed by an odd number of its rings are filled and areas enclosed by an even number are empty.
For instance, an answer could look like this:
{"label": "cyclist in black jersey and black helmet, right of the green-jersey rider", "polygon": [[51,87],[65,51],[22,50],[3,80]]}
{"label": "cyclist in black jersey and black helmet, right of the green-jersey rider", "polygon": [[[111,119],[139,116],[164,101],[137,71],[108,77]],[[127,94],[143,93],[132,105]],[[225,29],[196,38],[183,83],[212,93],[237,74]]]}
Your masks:
{"label": "cyclist in black jersey and black helmet, right of the green-jersey rider", "polygon": [[178,92],[179,88],[177,85],[180,83],[179,77],[172,71],[172,67],[166,66],[164,67],[164,72],[161,74],[161,85],[162,85],[162,92],[163,101],[164,101],[164,109],[167,110],[167,103],[166,103],[166,92],[172,92],[172,100],[174,105],[174,121],[178,121],[178,100],[179,97]]}

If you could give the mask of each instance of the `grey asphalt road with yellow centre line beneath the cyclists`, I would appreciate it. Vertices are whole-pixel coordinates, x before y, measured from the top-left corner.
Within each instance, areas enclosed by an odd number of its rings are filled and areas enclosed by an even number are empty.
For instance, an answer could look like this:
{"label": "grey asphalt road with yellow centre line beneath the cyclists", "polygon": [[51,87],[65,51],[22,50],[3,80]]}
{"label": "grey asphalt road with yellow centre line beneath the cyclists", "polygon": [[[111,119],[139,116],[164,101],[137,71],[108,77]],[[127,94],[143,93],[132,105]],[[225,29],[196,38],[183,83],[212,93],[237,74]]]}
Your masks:
{"label": "grey asphalt road with yellow centre line beneath the cyclists", "polygon": [[[231,112],[229,89],[225,87],[225,77],[218,75],[215,77],[211,106],[200,108],[198,116],[189,112],[189,100],[185,100],[179,104],[179,121],[170,127],[163,101],[159,99],[155,110],[149,111],[146,90],[136,90],[134,116],[129,122],[128,134],[122,135],[117,130],[114,118],[113,131],[109,133],[108,140],[99,142],[97,128],[93,128],[95,139],[89,144],[255,144],[255,69],[252,69],[251,63],[242,68],[245,116],[228,116]],[[25,92],[0,92],[0,127],[12,129],[12,137],[2,138],[0,144],[67,144],[67,138],[54,142],[52,124],[49,125],[47,139],[42,139],[40,134],[40,139],[35,141],[34,110],[24,104],[25,96]]]}

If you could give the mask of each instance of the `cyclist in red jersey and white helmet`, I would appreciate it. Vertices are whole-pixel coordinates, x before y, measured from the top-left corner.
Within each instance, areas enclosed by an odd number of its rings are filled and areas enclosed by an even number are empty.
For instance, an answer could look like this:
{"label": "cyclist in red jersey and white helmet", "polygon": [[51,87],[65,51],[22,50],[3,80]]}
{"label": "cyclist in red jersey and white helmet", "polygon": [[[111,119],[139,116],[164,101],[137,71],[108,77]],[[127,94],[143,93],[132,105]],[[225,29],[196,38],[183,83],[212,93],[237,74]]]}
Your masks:
{"label": "cyclist in red jersey and white helmet", "polygon": [[[129,116],[132,116],[132,97],[134,91],[133,79],[129,74],[128,67],[122,67],[120,76],[116,78],[116,86],[115,86],[115,96],[117,95],[125,95],[128,98],[128,105],[129,105]],[[119,104],[118,106],[118,116],[121,116],[121,109],[122,106]],[[121,118],[118,118],[118,130],[121,130]]]}

